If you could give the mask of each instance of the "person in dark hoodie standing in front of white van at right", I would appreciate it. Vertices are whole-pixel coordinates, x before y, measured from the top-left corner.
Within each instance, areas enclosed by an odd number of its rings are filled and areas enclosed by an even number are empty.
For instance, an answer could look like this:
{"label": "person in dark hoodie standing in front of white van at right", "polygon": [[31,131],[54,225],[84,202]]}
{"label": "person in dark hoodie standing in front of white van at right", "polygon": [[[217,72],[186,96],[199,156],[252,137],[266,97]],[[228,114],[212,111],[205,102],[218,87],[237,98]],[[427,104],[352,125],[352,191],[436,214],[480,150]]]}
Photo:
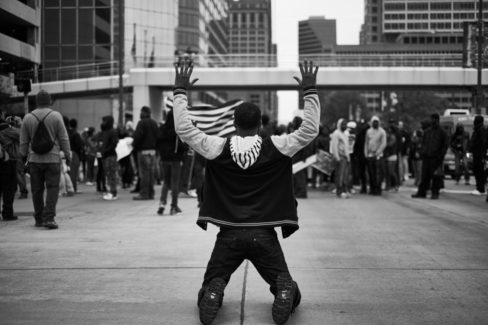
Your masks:
{"label": "person in dark hoodie standing in front of white van at right", "polygon": [[454,154],[454,161],[456,162],[456,171],[454,180],[456,185],[461,180],[461,168],[464,172],[464,183],[469,185],[469,170],[466,152],[468,151],[469,133],[464,130],[462,122],[456,124],[456,131],[451,135],[450,148]]}

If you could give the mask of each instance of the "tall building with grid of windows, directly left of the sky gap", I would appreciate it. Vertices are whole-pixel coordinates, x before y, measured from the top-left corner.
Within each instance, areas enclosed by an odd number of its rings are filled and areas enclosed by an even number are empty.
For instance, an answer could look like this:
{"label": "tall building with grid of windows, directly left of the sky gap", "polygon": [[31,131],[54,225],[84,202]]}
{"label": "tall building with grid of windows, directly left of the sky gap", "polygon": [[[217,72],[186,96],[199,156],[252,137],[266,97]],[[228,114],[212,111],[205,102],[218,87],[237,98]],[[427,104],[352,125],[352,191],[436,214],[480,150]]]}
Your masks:
{"label": "tall building with grid of windows, directly left of the sky gap", "polygon": [[[236,65],[253,65],[246,55],[259,58],[266,66],[276,66],[276,44],[272,43],[271,0],[227,1],[229,6],[228,44]],[[262,55],[262,58],[260,58]],[[255,103],[270,120],[278,119],[276,91],[231,91],[229,98]]]}

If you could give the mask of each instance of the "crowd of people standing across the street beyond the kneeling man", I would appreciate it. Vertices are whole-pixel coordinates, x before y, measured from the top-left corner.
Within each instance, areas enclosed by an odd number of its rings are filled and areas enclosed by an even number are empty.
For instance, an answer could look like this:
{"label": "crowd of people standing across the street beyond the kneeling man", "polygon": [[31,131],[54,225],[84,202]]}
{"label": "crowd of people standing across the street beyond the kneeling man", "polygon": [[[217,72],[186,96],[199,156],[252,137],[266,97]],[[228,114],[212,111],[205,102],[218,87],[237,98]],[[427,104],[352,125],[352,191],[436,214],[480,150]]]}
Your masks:
{"label": "crowd of people standing across the street beyond the kneeling man", "polygon": [[[38,107],[24,121],[18,117],[7,118],[5,110],[1,110],[3,220],[16,218],[12,204],[9,203],[13,202],[16,192],[19,192],[18,199],[26,199],[28,196],[26,173],[30,175],[31,183],[34,181],[32,197],[35,208],[37,206],[36,225],[45,223],[41,214],[46,215],[46,224],[54,223],[54,191],[59,197],[80,194],[80,182],[95,186],[94,192],[102,195],[106,201],[118,200],[118,187],[137,194],[134,200],[153,200],[155,184],[162,183],[157,208],[159,215],[163,215],[166,210],[169,191],[170,215],[183,214],[178,205],[182,193],[196,197],[200,206],[199,189],[203,183],[205,159],[178,137],[172,111],[167,112],[165,121],[158,124],[151,118],[150,108],[144,106],[135,129],[131,121],[116,127],[113,117],[105,116],[100,131],[96,132],[96,128],[90,126],[78,132],[76,119],[69,119],[49,109],[49,94],[40,92],[37,100]],[[44,154],[29,149],[35,137],[33,125],[38,121],[43,121],[48,133],[56,139],[53,148]],[[267,138],[271,135],[290,134],[300,127],[302,121],[302,118],[295,117],[288,125],[278,125],[267,115],[262,115],[259,136]],[[340,119],[335,129],[321,124],[319,135],[293,155],[292,161],[305,162],[308,157],[322,150],[331,160],[330,172],[324,173],[308,167],[293,174],[295,197],[306,198],[309,188],[331,190],[341,199],[350,198],[351,194],[358,192],[375,196],[385,192],[398,193],[411,175],[414,178],[413,185],[418,187],[413,198],[425,198],[430,191],[431,199],[438,199],[444,187],[443,161],[447,148],[451,149],[455,157],[456,184],[459,184],[461,176],[464,176],[465,184],[470,184],[467,153],[472,153],[476,189],[471,194],[484,195],[487,173],[484,161],[488,138],[483,122],[482,116],[476,117],[471,136],[459,123],[450,137],[440,127],[439,115],[436,113],[429,120],[422,121],[417,128],[413,126],[411,131],[407,131],[401,121],[390,119],[384,122],[377,116],[373,116],[369,122]],[[127,140],[132,152],[118,158],[116,148],[121,139]],[[29,168],[26,167],[27,163]],[[51,163],[57,163],[58,166],[50,166]],[[37,167],[42,176],[38,177],[32,171]],[[58,169],[59,177],[54,175]],[[47,193],[50,193],[45,202],[41,202],[40,191],[43,186],[36,187],[36,180],[45,182]],[[56,183],[59,191],[51,189],[47,185],[48,181]],[[49,184],[54,186],[54,183]],[[46,212],[42,212],[43,205],[46,206]]]}

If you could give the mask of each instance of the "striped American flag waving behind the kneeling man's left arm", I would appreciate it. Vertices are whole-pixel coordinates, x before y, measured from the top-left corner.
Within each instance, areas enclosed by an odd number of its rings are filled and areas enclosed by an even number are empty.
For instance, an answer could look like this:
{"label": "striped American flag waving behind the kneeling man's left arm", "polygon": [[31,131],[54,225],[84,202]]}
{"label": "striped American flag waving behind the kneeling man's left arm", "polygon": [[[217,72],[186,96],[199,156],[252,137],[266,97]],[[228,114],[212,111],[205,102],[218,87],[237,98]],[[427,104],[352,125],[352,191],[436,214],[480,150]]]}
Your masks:
{"label": "striped American flag waving behind the kneeling man's left arm", "polygon": [[[168,109],[173,109],[172,100],[165,97],[164,102]],[[237,105],[243,102],[243,100],[239,99],[217,106],[191,106],[188,107],[188,113],[190,113],[191,120],[195,123],[195,126],[205,134],[227,138],[236,133],[234,110]]]}

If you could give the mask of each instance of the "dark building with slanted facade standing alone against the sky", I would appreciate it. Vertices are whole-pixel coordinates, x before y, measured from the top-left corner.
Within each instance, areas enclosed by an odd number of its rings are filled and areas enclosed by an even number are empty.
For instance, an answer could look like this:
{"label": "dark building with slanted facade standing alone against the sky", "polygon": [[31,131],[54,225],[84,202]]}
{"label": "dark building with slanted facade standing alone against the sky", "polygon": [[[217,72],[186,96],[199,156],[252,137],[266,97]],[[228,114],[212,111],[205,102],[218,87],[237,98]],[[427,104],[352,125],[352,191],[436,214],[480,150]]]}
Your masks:
{"label": "dark building with slanted facade standing alone against the sky", "polygon": [[336,20],[312,16],[298,22],[298,53],[330,53],[337,44]]}

